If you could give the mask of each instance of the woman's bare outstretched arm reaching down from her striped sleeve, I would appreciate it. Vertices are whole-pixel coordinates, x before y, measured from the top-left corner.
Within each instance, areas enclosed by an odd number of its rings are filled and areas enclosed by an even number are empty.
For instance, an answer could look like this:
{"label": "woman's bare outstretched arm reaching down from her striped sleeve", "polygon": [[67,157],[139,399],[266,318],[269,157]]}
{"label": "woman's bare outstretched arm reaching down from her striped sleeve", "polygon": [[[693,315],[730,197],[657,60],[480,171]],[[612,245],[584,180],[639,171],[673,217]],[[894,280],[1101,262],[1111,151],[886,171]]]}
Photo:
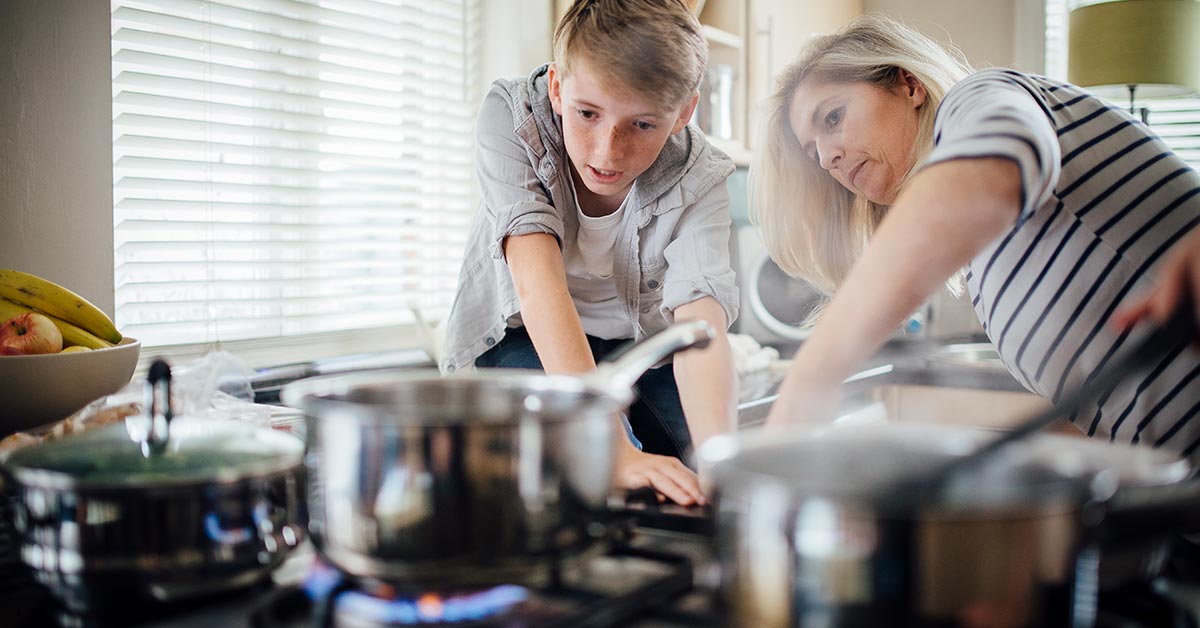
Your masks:
{"label": "woman's bare outstretched arm reaching down from her striped sleeve", "polygon": [[962,159],[917,173],[797,352],[768,425],[830,420],[841,382],[947,279],[1010,228],[1016,163]]}

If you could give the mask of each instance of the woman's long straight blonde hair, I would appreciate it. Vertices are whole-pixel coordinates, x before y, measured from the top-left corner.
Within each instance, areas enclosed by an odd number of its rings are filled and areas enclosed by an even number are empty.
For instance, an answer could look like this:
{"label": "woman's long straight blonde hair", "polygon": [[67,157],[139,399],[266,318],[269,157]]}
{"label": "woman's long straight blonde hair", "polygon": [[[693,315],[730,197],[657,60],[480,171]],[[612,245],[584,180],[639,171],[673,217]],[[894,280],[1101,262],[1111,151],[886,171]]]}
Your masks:
{"label": "woman's long straight blonde hair", "polygon": [[904,80],[901,70],[920,80],[926,92],[918,113],[916,165],[932,149],[938,104],[972,68],[956,49],[890,18],[863,16],[833,35],[814,38],[780,74],[767,102],[750,168],[750,221],[762,227],[767,251],[779,268],[827,295],[862,256],[887,207],[846,190],[805,155],[788,121],[792,97],[806,80],[890,89]]}

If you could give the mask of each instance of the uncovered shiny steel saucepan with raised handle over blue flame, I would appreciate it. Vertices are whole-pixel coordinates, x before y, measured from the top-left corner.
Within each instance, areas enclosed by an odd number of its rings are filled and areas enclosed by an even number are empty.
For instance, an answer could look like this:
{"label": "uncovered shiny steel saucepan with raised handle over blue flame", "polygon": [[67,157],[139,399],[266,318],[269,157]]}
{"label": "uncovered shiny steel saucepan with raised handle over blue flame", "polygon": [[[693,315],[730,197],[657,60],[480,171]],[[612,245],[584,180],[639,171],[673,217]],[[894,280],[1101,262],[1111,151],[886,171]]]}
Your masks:
{"label": "uncovered shiny steel saucepan with raised handle over blue flame", "polygon": [[667,328],[588,376],[490,369],[302,379],[308,531],[348,573],[466,585],[529,576],[595,546],[611,489],[613,417],[671,353],[707,345]]}

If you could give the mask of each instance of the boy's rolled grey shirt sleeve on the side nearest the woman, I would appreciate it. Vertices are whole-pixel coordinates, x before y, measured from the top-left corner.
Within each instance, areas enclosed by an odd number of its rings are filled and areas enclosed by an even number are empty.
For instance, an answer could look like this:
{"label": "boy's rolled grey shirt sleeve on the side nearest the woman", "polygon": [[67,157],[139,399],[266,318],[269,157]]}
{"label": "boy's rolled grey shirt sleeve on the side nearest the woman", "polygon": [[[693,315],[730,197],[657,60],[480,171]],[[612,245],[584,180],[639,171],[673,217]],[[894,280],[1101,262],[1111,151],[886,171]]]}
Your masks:
{"label": "boy's rolled grey shirt sleeve on the side nearest the woman", "polygon": [[662,316],[702,297],[713,297],[727,324],[738,317],[738,288],[730,265],[730,191],[718,183],[684,209],[674,238],[664,250]]}

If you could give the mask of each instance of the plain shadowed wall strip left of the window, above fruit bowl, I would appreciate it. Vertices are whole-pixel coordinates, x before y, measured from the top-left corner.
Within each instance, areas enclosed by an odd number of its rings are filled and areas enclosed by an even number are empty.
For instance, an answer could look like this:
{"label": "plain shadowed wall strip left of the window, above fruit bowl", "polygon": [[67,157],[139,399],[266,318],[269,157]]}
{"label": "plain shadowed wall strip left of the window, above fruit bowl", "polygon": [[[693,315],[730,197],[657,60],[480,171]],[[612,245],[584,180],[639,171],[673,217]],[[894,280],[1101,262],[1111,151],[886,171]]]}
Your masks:
{"label": "plain shadowed wall strip left of the window, above fruit bowl", "polygon": [[108,2],[0,1],[0,268],[113,313]]}

